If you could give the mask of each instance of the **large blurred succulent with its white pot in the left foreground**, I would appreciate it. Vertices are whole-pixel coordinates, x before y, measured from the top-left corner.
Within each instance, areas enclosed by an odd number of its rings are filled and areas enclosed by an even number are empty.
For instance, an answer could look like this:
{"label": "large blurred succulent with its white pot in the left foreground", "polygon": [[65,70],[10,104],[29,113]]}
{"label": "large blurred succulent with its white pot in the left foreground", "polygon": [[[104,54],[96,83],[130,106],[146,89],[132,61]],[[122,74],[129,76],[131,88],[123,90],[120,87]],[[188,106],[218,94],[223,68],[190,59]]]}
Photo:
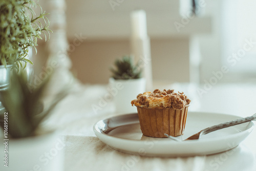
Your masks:
{"label": "large blurred succulent with its white pot in the left foreground", "polygon": [[7,169],[8,167],[10,170],[62,169],[61,153],[63,153],[62,148],[65,144],[51,128],[46,129],[42,121],[66,96],[67,91],[61,91],[52,102],[48,102],[50,105],[44,105],[49,79],[50,77],[43,80],[31,91],[28,87],[30,81],[27,74],[24,72],[18,74],[13,71],[9,88],[1,92],[6,111],[0,114],[2,127],[0,138],[4,141],[0,144],[0,153],[4,157],[4,164],[2,163],[0,168]]}

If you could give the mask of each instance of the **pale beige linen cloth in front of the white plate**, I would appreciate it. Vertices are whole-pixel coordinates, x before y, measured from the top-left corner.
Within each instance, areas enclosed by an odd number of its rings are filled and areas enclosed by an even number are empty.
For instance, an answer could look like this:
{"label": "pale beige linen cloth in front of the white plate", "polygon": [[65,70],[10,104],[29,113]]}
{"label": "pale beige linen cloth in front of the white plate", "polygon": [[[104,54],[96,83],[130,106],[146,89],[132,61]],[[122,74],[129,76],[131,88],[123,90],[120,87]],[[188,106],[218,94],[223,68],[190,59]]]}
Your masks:
{"label": "pale beige linen cloth in front of the white plate", "polygon": [[65,171],[255,170],[255,155],[243,144],[230,151],[194,157],[146,157],[112,149],[97,137],[66,136]]}

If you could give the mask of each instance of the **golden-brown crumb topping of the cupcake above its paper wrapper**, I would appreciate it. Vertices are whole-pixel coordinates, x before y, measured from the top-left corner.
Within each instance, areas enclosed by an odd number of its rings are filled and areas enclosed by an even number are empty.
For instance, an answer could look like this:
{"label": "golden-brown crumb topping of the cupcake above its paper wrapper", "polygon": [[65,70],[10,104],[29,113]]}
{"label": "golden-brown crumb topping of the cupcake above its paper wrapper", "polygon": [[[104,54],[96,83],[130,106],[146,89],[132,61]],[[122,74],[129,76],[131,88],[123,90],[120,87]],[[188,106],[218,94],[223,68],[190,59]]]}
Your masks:
{"label": "golden-brown crumb topping of the cupcake above its paper wrapper", "polygon": [[174,90],[154,90],[153,92],[145,92],[139,94],[137,99],[133,100],[132,105],[139,107],[162,107],[180,110],[185,108],[191,100],[183,92],[174,93]]}

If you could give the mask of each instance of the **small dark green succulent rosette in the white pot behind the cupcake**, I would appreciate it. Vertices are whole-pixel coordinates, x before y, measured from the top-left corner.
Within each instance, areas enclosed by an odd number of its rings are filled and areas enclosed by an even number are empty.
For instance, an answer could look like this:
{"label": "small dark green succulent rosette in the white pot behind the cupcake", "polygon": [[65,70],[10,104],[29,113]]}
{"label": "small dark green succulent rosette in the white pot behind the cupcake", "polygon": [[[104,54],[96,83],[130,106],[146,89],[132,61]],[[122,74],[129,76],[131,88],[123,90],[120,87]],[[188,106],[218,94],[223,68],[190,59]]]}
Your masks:
{"label": "small dark green succulent rosette in the white pot behind the cupcake", "polygon": [[131,56],[123,56],[122,59],[115,61],[115,67],[111,68],[112,77],[114,79],[136,79],[141,78],[142,69],[137,65],[133,64]]}

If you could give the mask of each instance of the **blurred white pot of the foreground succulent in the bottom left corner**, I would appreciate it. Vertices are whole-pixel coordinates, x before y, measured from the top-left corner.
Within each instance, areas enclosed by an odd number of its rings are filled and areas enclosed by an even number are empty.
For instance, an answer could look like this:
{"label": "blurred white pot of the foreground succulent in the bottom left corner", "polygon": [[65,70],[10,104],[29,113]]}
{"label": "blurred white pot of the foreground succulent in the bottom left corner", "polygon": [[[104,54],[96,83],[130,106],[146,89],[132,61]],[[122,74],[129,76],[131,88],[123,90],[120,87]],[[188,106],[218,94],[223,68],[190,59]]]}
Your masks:
{"label": "blurred white pot of the foreground succulent in the bottom left corner", "polygon": [[[2,142],[6,142],[3,139]],[[56,133],[22,139],[9,139],[8,144],[0,144],[0,149],[2,156],[0,170],[63,170],[65,144]],[[4,149],[7,149],[8,152]],[[8,154],[8,158],[5,157],[6,154]],[[5,166],[6,161],[8,167]]]}

